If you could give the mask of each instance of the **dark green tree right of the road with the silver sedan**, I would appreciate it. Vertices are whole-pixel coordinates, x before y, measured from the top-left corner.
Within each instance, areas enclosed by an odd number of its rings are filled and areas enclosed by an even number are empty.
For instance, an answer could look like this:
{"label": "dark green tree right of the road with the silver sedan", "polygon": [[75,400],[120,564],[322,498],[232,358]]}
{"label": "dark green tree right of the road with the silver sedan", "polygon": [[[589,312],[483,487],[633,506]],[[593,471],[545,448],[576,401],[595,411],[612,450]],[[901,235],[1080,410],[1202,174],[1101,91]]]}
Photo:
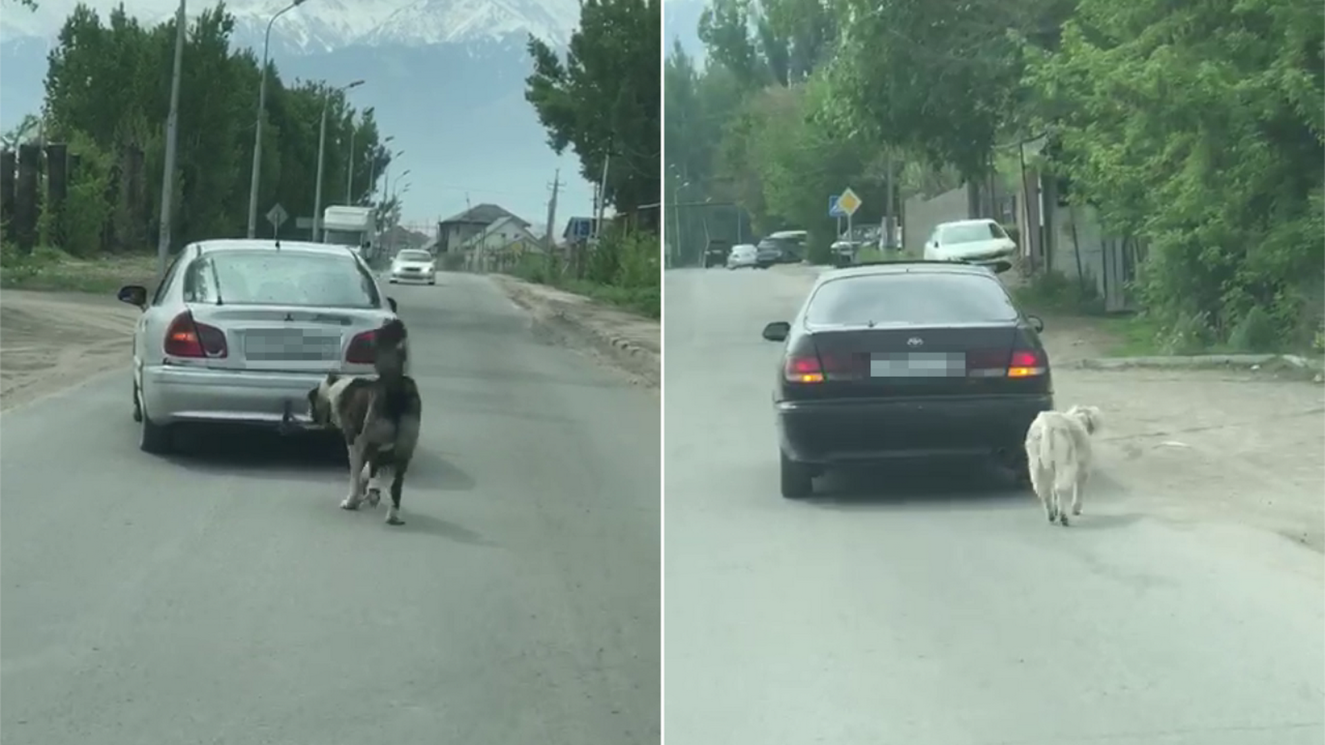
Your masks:
{"label": "dark green tree right of the road with the silver sedan", "polygon": [[580,174],[599,182],[619,212],[659,201],[661,12],[657,0],[586,0],[563,62],[530,37],[534,72],[525,98],[558,154],[567,147]]}

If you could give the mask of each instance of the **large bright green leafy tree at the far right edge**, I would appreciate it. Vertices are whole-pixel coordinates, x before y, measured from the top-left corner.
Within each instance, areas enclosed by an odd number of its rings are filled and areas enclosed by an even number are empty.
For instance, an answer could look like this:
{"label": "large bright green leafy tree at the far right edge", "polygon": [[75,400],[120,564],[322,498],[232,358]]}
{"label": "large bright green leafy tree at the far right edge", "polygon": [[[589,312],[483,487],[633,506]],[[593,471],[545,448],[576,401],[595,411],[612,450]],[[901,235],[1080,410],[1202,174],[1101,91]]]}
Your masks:
{"label": "large bright green leafy tree at the far right edge", "polygon": [[1140,288],[1170,325],[1227,338],[1325,312],[1325,9],[1314,0],[1081,0],[1027,82],[1075,199],[1145,239]]}

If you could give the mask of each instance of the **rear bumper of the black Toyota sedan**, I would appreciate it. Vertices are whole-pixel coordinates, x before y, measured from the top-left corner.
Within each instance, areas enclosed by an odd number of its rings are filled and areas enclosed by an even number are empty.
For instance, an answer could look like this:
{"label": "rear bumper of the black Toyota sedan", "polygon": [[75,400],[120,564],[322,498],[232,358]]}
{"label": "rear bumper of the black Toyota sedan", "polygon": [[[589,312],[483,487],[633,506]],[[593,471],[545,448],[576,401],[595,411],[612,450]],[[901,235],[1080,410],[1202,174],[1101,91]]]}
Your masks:
{"label": "rear bumper of the black Toyota sedan", "polygon": [[783,452],[823,465],[1019,449],[1052,408],[1052,394],[775,403]]}

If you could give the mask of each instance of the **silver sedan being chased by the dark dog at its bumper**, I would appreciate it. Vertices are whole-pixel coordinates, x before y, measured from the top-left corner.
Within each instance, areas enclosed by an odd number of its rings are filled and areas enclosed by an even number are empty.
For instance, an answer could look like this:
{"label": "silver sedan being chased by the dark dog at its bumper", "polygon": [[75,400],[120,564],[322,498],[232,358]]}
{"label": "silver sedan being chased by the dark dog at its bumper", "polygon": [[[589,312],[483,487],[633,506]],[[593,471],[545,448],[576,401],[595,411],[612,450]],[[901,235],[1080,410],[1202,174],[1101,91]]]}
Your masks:
{"label": "silver sedan being chased by the dark dog at its bumper", "polygon": [[372,374],[374,333],[396,304],[352,248],[270,240],[184,247],[134,329],[139,447],[160,453],[179,423],[297,431],[311,427],[309,391],[327,372]]}

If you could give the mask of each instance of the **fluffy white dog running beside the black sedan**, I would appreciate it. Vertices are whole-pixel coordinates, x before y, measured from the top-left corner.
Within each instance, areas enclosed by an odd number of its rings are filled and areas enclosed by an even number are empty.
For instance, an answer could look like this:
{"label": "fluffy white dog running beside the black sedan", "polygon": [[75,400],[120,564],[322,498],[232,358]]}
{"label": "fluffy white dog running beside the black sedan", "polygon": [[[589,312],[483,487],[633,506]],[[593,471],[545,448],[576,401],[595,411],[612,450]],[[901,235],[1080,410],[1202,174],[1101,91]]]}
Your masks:
{"label": "fluffy white dog running beside the black sedan", "polygon": [[1068,525],[1064,504],[1072,493],[1072,514],[1081,514],[1081,492],[1090,477],[1090,436],[1104,422],[1093,406],[1073,406],[1067,411],[1041,411],[1026,433],[1026,457],[1031,488],[1044,505],[1049,522]]}

